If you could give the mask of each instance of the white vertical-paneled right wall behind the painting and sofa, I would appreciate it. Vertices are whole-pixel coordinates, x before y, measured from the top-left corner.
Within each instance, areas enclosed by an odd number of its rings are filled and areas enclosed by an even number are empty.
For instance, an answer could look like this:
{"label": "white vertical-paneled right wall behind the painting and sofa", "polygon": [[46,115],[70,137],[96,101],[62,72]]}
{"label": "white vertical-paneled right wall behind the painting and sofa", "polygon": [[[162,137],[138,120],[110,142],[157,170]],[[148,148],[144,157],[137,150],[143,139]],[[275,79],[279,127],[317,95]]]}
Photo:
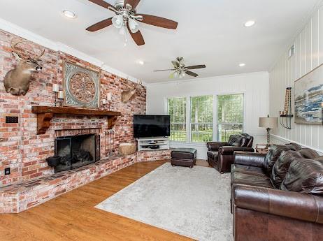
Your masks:
{"label": "white vertical-paneled right wall behind the painting and sofa", "polygon": [[[290,46],[293,43],[294,56],[288,58],[286,50],[269,73],[269,111],[273,117],[278,116],[279,111],[284,108],[286,87],[294,89],[295,80],[323,64],[323,6],[315,10]],[[294,112],[294,91],[292,104]],[[295,124],[293,119],[292,129],[280,126],[273,133],[275,142],[293,141],[323,152],[323,125]]]}

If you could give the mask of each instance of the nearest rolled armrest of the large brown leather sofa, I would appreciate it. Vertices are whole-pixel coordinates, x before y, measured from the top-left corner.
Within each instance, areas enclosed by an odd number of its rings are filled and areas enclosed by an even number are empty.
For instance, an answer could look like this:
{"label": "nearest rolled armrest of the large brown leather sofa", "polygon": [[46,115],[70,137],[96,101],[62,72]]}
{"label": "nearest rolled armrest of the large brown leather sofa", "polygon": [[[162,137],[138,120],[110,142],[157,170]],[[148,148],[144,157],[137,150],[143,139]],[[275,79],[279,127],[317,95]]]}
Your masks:
{"label": "nearest rolled armrest of the large brown leather sofa", "polygon": [[232,188],[234,207],[323,224],[323,197],[239,184]]}

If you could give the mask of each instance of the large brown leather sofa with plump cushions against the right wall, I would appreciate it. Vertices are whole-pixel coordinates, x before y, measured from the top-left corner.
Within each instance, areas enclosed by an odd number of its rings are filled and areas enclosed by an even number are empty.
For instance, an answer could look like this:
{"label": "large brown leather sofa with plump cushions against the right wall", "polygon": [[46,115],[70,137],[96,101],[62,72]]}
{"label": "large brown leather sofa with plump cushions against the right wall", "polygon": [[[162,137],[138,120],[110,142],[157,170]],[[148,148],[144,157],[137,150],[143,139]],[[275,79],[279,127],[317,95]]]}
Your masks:
{"label": "large brown leather sofa with plump cushions against the right wall", "polygon": [[323,240],[323,158],[312,149],[236,152],[231,187],[235,241]]}

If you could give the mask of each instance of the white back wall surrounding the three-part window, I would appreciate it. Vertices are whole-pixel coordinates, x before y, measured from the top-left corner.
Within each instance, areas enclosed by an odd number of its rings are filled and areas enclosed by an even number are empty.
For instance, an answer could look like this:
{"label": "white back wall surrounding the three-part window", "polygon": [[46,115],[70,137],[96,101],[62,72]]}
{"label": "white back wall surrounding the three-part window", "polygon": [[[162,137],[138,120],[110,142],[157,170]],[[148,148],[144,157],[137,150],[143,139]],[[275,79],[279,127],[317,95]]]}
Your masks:
{"label": "white back wall surrounding the three-part window", "polygon": [[[269,77],[266,72],[227,75],[214,78],[161,82],[147,86],[147,114],[163,115],[167,97],[245,94],[244,131],[254,136],[254,144],[266,143],[266,129],[259,128],[259,117],[268,115]],[[206,159],[206,145],[180,143],[171,147],[194,147],[199,159]]]}

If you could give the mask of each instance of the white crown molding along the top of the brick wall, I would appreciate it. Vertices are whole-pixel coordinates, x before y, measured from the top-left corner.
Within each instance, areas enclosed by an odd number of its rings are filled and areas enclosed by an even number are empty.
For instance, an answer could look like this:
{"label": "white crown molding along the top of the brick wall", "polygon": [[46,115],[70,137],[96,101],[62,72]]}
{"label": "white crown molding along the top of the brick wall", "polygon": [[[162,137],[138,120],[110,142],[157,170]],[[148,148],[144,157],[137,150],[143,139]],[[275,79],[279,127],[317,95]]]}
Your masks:
{"label": "white crown molding along the top of the brick wall", "polygon": [[[7,31],[10,34],[15,34],[16,36],[20,36],[21,38],[27,39],[28,41],[34,42],[38,45],[42,45],[43,47],[49,48],[50,50],[54,50],[57,52],[64,52],[78,59],[82,59],[83,61],[87,61],[90,64],[94,64],[95,66],[98,66],[103,71],[107,71],[114,75],[120,76],[121,78],[126,78],[133,82],[138,82],[137,78],[134,78],[133,76],[128,75],[127,73],[123,73],[122,71],[119,71],[115,68],[112,68],[104,64],[104,62],[99,59],[96,59],[94,57],[89,56],[88,54],[85,54],[84,52],[71,48],[69,45],[66,45],[64,43],[51,41],[48,38],[44,38],[43,36],[34,34],[33,32],[27,29],[24,29],[16,24],[13,24],[1,18],[0,18],[0,29],[2,29],[3,31]],[[147,84],[143,82],[143,85],[146,86]]]}

